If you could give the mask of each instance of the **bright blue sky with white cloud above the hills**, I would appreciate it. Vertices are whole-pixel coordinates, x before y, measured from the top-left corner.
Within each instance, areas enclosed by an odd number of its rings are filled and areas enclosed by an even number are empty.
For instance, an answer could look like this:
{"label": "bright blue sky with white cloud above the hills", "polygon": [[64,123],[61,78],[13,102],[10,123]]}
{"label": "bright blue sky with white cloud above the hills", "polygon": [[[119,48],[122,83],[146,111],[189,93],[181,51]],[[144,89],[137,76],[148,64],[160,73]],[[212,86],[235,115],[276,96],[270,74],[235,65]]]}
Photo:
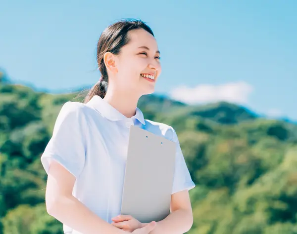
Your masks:
{"label": "bright blue sky with white cloud above the hills", "polygon": [[0,67],[53,92],[93,84],[100,33],[141,18],[161,51],[157,93],[297,120],[296,12],[295,0],[2,0]]}

